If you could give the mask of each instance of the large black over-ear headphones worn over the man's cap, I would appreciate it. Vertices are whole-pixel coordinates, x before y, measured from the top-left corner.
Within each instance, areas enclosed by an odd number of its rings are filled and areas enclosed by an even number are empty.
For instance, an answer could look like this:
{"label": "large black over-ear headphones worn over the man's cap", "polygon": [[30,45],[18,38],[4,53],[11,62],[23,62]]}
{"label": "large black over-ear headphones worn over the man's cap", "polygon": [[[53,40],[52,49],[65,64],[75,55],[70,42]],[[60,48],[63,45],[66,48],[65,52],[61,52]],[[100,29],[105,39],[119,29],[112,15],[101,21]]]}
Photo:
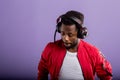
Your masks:
{"label": "large black over-ear headphones worn over the man's cap", "polygon": [[54,34],[54,42],[55,42],[56,33],[57,32],[61,33],[60,27],[61,27],[62,23],[64,24],[65,19],[71,21],[73,24],[76,25],[76,27],[78,29],[78,33],[77,33],[78,38],[84,39],[87,36],[87,34],[88,34],[87,28],[82,25],[82,22],[80,19],[78,19],[77,17],[68,17],[66,15],[61,15],[56,20],[57,25],[56,25],[56,30],[55,30],[55,34]]}

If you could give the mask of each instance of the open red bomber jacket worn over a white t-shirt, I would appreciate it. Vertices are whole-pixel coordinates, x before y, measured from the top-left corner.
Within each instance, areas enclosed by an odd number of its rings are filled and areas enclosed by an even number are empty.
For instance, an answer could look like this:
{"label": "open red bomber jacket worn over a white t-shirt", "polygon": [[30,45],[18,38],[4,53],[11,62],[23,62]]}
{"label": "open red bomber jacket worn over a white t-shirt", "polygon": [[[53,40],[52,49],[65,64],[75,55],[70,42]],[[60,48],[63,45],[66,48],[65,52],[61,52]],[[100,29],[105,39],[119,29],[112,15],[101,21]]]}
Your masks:
{"label": "open red bomber jacket worn over a white t-shirt", "polygon": [[[48,80],[48,74],[50,74],[50,80],[58,80],[65,54],[66,49],[62,40],[49,43],[45,47],[38,65],[38,80]],[[96,47],[81,40],[77,57],[84,80],[94,80],[95,73],[100,80],[111,80],[111,65]]]}

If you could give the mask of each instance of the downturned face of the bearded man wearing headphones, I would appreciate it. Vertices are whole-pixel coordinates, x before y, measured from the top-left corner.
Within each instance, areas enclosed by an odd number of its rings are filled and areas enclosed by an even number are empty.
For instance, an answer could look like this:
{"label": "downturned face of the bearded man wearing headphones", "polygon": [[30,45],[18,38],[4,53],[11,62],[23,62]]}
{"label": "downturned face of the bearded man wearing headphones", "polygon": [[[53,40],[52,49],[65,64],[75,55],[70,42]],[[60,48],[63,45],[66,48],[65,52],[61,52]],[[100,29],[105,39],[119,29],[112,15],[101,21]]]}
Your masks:
{"label": "downturned face of the bearded man wearing headphones", "polygon": [[76,26],[73,25],[61,25],[61,38],[64,42],[66,49],[71,49],[77,46],[78,38],[77,38],[77,29]]}

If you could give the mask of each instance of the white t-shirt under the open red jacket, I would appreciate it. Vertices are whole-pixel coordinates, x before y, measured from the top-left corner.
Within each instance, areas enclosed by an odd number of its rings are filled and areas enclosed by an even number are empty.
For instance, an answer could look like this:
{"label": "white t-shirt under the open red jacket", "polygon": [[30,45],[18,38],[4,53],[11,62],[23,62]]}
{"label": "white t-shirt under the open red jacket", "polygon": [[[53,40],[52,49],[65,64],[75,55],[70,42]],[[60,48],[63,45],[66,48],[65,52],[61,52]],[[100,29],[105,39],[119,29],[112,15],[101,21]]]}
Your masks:
{"label": "white t-shirt under the open red jacket", "polygon": [[59,80],[84,80],[77,52],[67,51],[60,69]]}

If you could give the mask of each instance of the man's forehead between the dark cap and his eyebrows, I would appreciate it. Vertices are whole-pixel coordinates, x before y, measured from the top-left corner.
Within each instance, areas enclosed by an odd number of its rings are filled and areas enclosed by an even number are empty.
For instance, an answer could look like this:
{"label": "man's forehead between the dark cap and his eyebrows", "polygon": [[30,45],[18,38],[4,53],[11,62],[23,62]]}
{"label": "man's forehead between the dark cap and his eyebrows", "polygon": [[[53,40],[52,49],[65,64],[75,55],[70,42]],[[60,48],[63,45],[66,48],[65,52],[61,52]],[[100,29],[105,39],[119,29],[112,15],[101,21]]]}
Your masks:
{"label": "man's forehead between the dark cap and his eyebrows", "polygon": [[61,25],[61,32],[75,32],[76,31],[76,26],[75,24],[73,25]]}

